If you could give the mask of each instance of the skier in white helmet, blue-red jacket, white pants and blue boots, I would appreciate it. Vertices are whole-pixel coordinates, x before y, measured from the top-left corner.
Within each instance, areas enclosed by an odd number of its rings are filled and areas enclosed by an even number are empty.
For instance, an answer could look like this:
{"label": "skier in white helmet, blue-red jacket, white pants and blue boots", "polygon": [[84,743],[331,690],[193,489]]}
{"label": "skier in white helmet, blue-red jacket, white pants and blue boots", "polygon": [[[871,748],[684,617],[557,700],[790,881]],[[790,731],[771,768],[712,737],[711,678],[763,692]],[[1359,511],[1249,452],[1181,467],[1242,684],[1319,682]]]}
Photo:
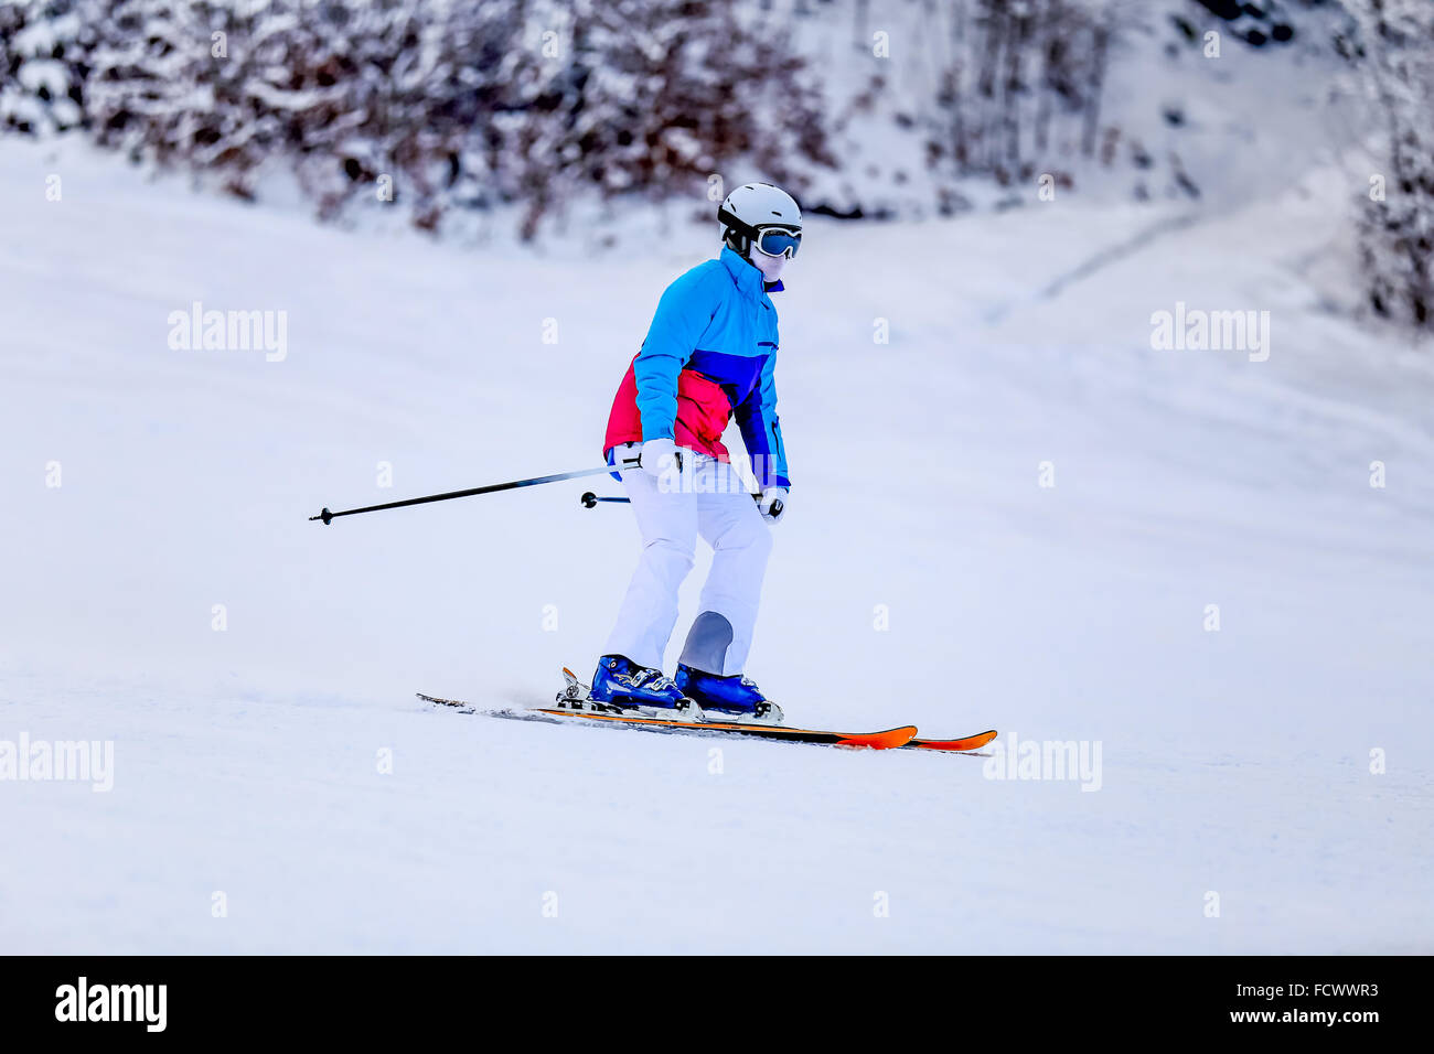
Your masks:
{"label": "skier in white helmet, blue-red jacket, white pants and blue boots", "polygon": [[[734,189],[717,219],[723,250],[677,278],[658,301],[641,350],[618,387],[604,440],[642,535],[591,698],[685,718],[780,723],[782,710],[743,675],[770,523],[787,508],[787,457],[773,369],[777,311],[769,293],[802,244],[796,201],[771,184]],[[736,417],[760,485],[753,502],[721,443]],[[697,536],[711,572],[674,680],[663,654],[677,622],[677,591]],[[693,714],[691,706],[703,711]]]}

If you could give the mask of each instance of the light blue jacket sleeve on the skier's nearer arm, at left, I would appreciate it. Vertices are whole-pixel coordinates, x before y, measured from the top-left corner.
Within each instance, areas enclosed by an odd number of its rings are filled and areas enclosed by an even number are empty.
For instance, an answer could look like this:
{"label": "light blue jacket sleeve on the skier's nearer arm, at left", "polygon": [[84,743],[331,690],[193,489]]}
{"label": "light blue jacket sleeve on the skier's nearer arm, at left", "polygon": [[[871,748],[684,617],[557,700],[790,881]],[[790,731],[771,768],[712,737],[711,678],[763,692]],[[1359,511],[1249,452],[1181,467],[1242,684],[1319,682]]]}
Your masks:
{"label": "light blue jacket sleeve on the skier's nearer arm, at left", "polygon": [[677,420],[677,377],[717,311],[720,287],[710,271],[694,268],[663,293],[632,361],[642,440],[673,439]]}

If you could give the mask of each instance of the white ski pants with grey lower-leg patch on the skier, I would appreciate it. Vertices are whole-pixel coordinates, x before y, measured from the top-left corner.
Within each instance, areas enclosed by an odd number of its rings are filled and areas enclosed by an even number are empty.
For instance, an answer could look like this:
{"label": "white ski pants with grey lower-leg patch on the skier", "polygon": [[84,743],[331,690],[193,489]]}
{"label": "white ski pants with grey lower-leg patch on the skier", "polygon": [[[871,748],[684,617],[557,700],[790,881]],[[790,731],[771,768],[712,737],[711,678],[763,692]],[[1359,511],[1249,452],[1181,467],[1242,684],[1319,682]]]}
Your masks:
{"label": "white ski pants with grey lower-leg patch on the skier", "polygon": [[677,486],[675,473],[660,480],[644,469],[622,470],[642,555],[604,654],[663,668],[677,622],[677,591],[693,569],[701,535],[713,548],[713,566],[680,661],[730,677],[743,671],[751,650],[771,529],[730,465],[693,450],[681,456],[685,470]]}

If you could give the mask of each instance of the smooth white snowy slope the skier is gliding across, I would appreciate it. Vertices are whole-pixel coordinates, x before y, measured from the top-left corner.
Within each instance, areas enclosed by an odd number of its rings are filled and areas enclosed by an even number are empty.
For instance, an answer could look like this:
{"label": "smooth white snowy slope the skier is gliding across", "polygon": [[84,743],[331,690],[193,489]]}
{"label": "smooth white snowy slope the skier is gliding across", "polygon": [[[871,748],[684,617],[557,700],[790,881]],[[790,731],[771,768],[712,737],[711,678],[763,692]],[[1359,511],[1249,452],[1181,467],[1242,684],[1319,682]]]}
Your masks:
{"label": "smooth white snowy slope the skier is gliding across", "polygon": [[[112,740],[113,790],[0,782],[0,951],[1434,949],[1434,369],[1324,308],[1338,184],[819,224],[790,271],[751,673],[819,727],[1098,743],[1087,793],[423,710],[588,673],[625,511],[305,518],[595,463],[711,229],[469,252],[63,149],[0,152],[0,740]],[[195,300],[287,357],[171,350]],[[1271,310],[1269,361],[1150,350],[1177,300]]]}

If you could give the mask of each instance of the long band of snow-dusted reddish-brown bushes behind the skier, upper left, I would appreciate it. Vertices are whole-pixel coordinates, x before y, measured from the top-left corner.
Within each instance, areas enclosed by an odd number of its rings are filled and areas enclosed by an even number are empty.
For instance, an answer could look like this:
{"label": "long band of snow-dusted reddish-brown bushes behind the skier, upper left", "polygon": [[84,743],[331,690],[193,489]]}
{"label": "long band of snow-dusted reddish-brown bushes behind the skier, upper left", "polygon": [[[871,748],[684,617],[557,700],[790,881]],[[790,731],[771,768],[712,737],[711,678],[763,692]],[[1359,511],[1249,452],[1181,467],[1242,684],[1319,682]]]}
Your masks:
{"label": "long band of snow-dusted reddish-brown bushes behind the skier, upper left", "polygon": [[[85,4],[83,85],[50,52]],[[516,202],[531,235],[575,189],[697,191],[741,161],[800,188],[829,163],[803,63],[737,0],[33,0],[0,22],[11,126],[83,102],[105,146],[255,191],[297,172],[321,215],[358,195],[432,228]],[[0,9],[10,11],[10,9]],[[43,33],[42,33],[43,30]],[[33,92],[32,92],[33,93]]]}

